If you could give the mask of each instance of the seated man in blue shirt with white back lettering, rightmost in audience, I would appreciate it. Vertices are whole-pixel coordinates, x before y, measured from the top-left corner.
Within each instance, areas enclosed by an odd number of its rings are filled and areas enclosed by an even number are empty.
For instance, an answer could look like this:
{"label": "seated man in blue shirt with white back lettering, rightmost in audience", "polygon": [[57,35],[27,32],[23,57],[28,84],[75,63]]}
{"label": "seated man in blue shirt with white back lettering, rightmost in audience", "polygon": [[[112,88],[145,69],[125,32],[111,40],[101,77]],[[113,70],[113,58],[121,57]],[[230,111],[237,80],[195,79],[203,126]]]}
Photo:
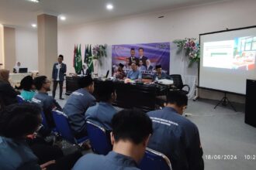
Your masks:
{"label": "seated man in blue shirt with white back lettering, rightmost in audience", "polygon": [[153,121],[154,134],[148,148],[168,156],[174,170],[202,170],[202,147],[195,124],[182,117],[188,97],[178,90],[168,93],[163,110],[147,113]]}

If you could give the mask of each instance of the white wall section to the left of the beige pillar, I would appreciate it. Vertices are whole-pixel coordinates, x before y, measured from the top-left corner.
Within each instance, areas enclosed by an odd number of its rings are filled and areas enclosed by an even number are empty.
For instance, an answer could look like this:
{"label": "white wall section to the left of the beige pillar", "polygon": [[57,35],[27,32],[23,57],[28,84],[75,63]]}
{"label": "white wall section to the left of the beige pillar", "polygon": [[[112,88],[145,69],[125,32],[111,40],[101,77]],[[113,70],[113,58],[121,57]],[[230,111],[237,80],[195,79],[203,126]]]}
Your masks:
{"label": "white wall section to the left of the beige pillar", "polygon": [[38,46],[36,29],[16,29],[16,61],[29,71],[38,70]]}

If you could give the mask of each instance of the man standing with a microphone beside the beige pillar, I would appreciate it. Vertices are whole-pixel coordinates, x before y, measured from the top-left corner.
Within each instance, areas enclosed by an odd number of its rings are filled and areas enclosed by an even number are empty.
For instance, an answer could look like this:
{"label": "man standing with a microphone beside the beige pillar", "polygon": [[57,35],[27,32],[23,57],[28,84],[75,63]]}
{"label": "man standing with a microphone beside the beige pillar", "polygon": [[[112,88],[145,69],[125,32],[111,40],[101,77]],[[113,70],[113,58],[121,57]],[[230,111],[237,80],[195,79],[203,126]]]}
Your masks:
{"label": "man standing with a microphone beside the beige pillar", "polygon": [[54,81],[53,97],[55,97],[57,83],[59,83],[60,84],[60,99],[64,100],[64,98],[62,98],[62,87],[63,87],[64,76],[67,72],[67,66],[66,66],[66,64],[62,63],[62,61],[63,61],[62,55],[59,55],[57,61],[58,61],[58,63],[54,63],[53,75],[52,75],[52,78]]}

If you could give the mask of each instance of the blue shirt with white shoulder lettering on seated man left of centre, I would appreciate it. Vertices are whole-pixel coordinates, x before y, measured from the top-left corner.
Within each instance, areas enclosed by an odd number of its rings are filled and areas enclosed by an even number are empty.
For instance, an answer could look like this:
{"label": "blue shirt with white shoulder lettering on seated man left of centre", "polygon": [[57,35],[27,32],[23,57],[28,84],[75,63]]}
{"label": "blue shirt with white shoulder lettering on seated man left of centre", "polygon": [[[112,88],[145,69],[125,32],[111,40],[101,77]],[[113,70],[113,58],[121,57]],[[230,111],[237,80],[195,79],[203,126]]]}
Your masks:
{"label": "blue shirt with white shoulder lettering on seated man left of centre", "polygon": [[88,107],[96,104],[95,97],[87,90],[81,88],[73,93],[67,99],[63,111],[67,114],[68,121],[74,134],[83,133],[85,129],[85,111]]}

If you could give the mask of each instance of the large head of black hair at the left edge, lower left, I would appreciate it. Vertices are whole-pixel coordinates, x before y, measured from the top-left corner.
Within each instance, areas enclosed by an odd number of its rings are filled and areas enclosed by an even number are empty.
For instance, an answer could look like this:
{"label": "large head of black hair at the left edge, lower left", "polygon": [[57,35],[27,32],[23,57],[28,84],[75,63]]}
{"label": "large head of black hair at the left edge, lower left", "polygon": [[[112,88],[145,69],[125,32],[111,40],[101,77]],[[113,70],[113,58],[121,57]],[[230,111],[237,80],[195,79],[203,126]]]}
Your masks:
{"label": "large head of black hair at the left edge, lower left", "polygon": [[0,112],[0,135],[23,138],[33,134],[41,124],[40,107],[36,104],[11,104]]}

